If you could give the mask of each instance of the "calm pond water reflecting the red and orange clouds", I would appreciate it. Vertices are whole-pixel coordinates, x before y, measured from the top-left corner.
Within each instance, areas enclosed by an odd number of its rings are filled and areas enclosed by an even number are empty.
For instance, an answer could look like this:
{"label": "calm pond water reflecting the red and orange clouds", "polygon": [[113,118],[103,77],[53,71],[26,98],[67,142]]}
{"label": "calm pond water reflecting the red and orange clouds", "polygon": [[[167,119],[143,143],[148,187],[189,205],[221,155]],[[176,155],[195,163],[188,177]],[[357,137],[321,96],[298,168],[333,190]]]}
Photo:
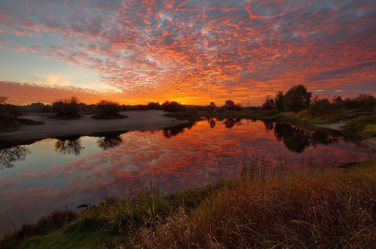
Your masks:
{"label": "calm pond water reflecting the red and orange clouds", "polygon": [[[266,122],[266,121],[265,121]],[[154,180],[171,193],[210,178],[235,176],[244,156],[264,154],[297,164],[362,160],[365,148],[337,132],[287,124],[211,118],[166,131],[111,132],[49,138],[0,150],[0,228],[32,221],[55,208],[96,205]],[[30,143],[30,142],[29,142]],[[13,144],[16,145],[16,144]]]}

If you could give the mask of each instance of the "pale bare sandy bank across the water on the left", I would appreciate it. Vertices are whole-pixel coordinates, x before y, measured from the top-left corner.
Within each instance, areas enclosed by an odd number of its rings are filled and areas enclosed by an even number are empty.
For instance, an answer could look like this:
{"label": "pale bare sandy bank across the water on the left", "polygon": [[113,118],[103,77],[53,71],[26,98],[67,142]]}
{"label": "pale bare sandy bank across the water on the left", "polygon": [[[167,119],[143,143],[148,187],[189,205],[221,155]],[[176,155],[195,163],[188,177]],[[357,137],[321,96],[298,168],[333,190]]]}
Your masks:
{"label": "pale bare sandy bank across the water on the left", "polygon": [[73,134],[89,135],[103,131],[147,131],[188,122],[164,117],[165,113],[167,112],[160,110],[127,111],[120,112],[120,114],[127,115],[128,118],[114,120],[96,120],[91,118],[92,115],[82,115],[77,120],[59,120],[40,115],[26,116],[26,118],[45,123],[44,125],[20,126],[19,131],[2,133],[0,138],[34,139]]}

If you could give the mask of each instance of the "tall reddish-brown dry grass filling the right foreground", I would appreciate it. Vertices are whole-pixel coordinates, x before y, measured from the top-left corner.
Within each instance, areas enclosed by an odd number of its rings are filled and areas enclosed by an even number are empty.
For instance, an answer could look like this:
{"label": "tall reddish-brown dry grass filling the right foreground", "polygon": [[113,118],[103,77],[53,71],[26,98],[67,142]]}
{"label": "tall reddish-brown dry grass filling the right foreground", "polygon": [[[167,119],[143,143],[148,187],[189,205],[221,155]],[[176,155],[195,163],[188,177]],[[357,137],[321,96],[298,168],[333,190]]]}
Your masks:
{"label": "tall reddish-brown dry grass filling the right foreground", "polygon": [[[373,161],[373,164],[375,162]],[[194,210],[148,219],[136,248],[371,248],[375,173],[297,173],[224,184]]]}

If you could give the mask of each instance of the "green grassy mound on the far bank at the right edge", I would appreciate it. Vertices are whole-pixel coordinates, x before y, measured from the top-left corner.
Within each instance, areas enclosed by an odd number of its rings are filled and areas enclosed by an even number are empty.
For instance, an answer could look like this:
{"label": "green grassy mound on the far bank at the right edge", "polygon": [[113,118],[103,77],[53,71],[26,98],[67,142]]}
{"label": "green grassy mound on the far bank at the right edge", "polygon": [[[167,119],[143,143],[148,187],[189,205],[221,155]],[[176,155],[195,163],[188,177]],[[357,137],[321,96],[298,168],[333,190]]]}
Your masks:
{"label": "green grassy mound on the far bank at the right edge", "polygon": [[346,131],[356,132],[362,137],[376,137],[376,115],[366,115],[352,119],[341,126]]}

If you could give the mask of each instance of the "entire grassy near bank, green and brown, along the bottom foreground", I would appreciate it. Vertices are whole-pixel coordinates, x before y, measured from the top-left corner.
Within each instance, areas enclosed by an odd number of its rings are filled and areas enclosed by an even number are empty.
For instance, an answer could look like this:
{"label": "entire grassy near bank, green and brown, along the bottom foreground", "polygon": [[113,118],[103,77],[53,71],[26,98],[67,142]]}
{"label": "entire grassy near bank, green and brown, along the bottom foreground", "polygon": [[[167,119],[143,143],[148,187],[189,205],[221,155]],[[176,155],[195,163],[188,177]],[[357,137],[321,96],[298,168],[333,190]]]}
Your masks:
{"label": "entire grassy near bank, green and brown, along the bottom foreground", "polygon": [[[300,164],[303,166],[304,162]],[[299,166],[299,165],[297,165]],[[55,211],[8,232],[1,248],[371,248],[376,160],[292,171],[244,158],[240,175],[165,195],[150,183],[80,213]],[[317,168],[315,168],[317,169]],[[30,237],[33,236],[33,237]],[[68,243],[69,241],[69,243]]]}

